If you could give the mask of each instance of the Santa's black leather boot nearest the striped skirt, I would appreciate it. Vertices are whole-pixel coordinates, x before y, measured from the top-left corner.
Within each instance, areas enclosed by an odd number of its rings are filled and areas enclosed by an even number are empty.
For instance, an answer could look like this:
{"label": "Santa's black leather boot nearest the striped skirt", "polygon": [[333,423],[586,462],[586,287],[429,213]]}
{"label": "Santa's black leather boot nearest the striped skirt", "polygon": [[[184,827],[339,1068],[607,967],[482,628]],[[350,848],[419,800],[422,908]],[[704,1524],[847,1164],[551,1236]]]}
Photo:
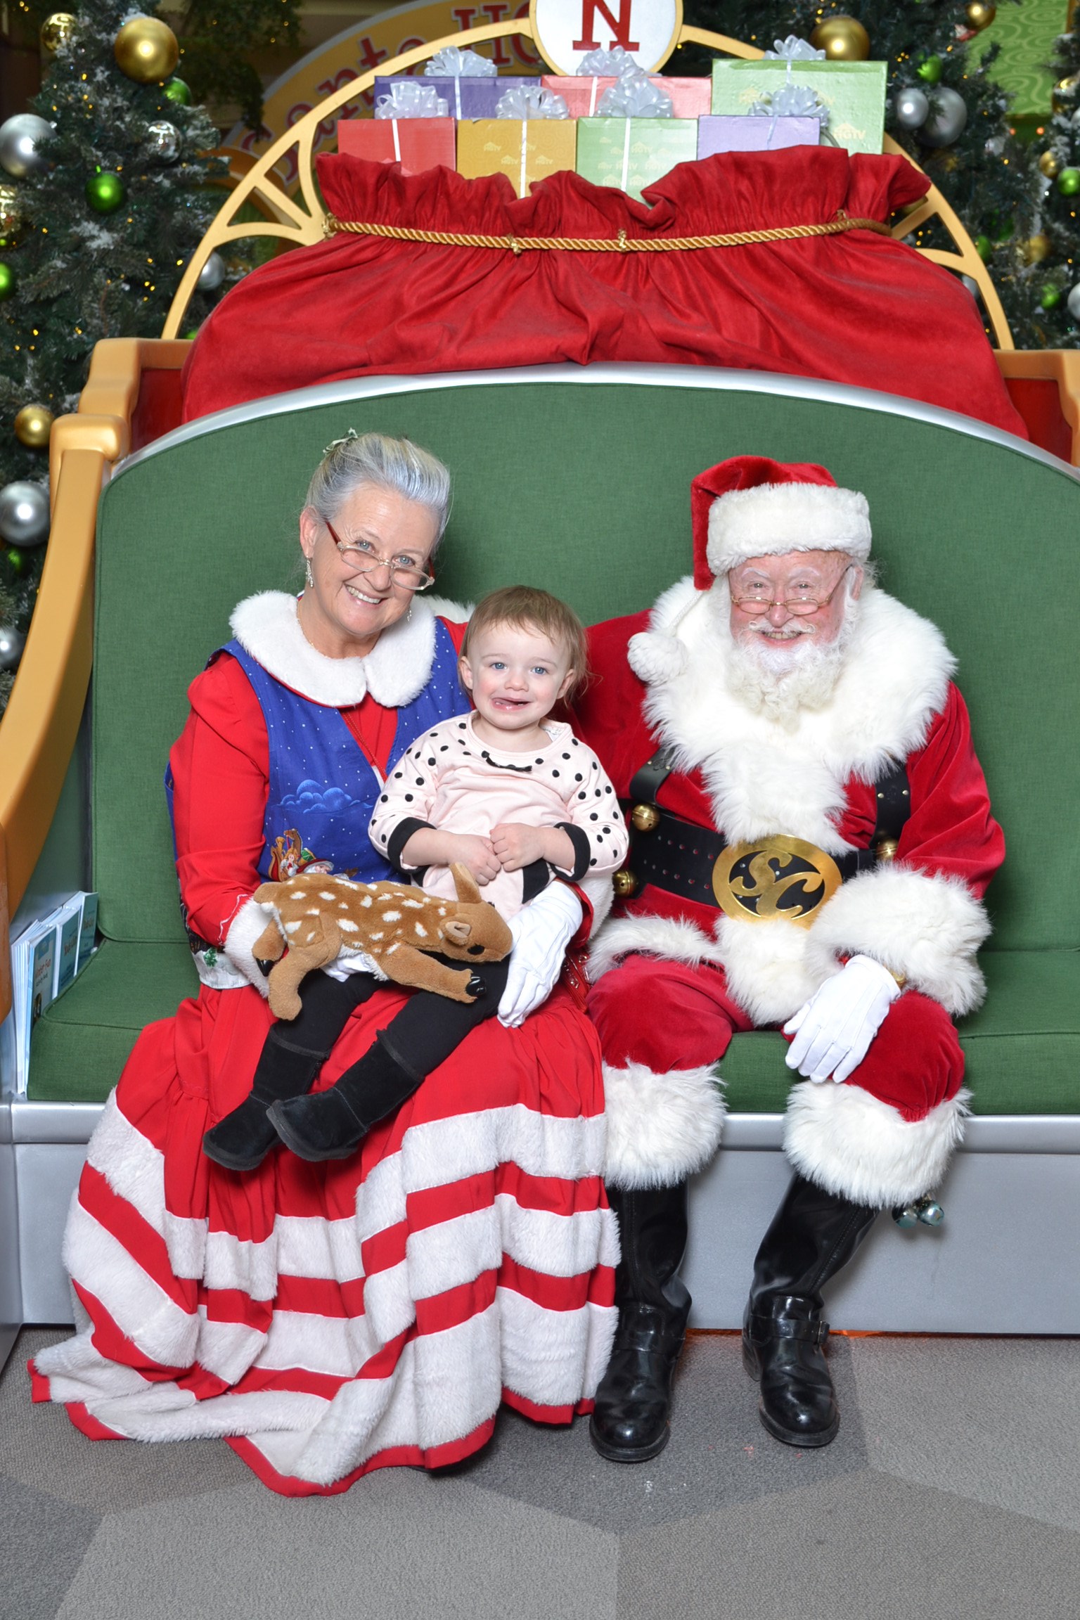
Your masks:
{"label": "Santa's black leather boot nearest the striped skirt", "polygon": [[593,1445],[612,1463],[648,1463],[670,1439],[669,1411],[690,1294],[678,1278],[687,1247],[687,1183],[620,1192],[615,1272],[619,1327],[589,1421]]}

